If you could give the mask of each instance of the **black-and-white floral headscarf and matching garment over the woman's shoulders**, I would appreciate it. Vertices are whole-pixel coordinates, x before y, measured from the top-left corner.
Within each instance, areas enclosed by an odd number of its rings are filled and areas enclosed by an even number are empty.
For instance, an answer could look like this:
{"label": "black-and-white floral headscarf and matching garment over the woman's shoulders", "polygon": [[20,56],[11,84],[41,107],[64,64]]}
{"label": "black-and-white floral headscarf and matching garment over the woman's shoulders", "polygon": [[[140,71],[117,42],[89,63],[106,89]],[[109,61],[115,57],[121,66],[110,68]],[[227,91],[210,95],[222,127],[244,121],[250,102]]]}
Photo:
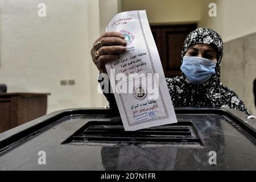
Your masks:
{"label": "black-and-white floral headscarf and matching garment over the woman's shoulders", "polygon": [[[166,78],[175,107],[227,107],[249,114],[245,104],[220,81],[220,65],[223,52],[221,36],[210,28],[197,28],[185,38],[181,58],[195,44],[210,44],[217,53],[216,73],[204,84],[193,84],[182,73],[180,77]],[[181,59],[182,61],[182,59]]]}

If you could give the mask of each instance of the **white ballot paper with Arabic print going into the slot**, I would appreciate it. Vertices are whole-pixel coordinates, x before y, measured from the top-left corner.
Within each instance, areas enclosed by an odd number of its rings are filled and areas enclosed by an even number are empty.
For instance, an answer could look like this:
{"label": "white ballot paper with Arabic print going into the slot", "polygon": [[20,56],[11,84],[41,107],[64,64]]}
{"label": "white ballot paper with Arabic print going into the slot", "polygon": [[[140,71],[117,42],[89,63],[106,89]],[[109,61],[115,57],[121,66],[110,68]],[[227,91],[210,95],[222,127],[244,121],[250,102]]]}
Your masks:
{"label": "white ballot paper with Arabic print going into the slot", "polygon": [[119,13],[106,32],[125,36],[127,51],[106,64],[123,126],[134,131],[177,122],[145,10]]}

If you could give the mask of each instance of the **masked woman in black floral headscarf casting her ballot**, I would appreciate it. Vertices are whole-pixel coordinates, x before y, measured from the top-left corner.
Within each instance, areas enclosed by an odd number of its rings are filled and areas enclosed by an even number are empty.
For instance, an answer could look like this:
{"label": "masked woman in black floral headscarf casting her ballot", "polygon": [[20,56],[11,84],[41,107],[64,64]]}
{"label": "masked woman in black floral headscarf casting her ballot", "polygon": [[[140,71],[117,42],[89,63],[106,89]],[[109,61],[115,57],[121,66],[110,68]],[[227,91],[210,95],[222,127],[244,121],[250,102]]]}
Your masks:
{"label": "masked woman in black floral headscarf casting her ballot", "polygon": [[[101,73],[106,73],[106,63],[126,51],[123,39],[118,32],[108,32],[94,42],[103,45],[91,51]],[[249,114],[237,94],[220,81],[222,51],[220,35],[210,28],[197,28],[187,36],[181,53],[182,76],[166,78],[175,107],[226,107]],[[113,94],[104,94],[110,107],[117,107]]]}

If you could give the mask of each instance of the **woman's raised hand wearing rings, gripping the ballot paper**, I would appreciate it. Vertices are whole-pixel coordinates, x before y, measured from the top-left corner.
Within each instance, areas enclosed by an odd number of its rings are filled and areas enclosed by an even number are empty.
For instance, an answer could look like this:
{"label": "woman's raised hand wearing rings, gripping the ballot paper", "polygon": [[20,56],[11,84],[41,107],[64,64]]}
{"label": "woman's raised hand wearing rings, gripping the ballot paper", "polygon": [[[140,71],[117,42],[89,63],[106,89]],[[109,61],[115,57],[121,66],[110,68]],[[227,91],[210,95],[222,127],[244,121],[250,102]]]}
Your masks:
{"label": "woman's raised hand wearing rings, gripping the ballot paper", "polygon": [[105,64],[119,59],[126,45],[125,36],[119,32],[106,32],[93,43],[90,55],[100,73],[107,73]]}

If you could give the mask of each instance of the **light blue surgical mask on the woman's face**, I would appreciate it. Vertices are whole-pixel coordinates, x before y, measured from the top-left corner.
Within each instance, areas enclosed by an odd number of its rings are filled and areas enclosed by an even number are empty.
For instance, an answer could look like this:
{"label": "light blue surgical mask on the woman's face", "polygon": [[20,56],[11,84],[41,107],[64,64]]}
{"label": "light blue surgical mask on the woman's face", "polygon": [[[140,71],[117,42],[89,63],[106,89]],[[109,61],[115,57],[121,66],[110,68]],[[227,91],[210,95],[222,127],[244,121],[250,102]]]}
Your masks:
{"label": "light blue surgical mask on the woman's face", "polygon": [[181,71],[193,84],[207,82],[215,73],[216,62],[203,57],[184,56]]}

